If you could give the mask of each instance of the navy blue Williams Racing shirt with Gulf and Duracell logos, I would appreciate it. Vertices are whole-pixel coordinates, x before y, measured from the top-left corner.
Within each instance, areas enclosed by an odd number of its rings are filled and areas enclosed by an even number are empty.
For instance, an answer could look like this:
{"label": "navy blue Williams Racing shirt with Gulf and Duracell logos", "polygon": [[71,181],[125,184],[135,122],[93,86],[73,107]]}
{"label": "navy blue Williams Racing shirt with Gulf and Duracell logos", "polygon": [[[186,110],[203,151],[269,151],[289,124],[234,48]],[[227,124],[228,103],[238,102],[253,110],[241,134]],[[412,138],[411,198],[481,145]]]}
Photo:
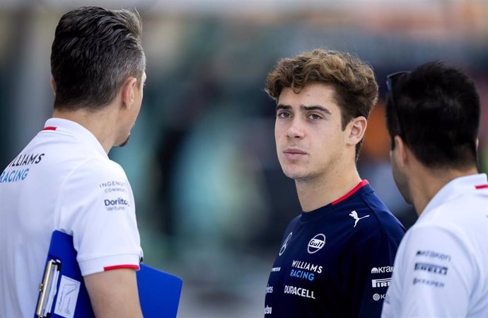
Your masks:
{"label": "navy blue Williams Racing shirt with Gulf and Duracell logos", "polygon": [[366,180],[302,212],[269,273],[265,318],[380,317],[403,234]]}

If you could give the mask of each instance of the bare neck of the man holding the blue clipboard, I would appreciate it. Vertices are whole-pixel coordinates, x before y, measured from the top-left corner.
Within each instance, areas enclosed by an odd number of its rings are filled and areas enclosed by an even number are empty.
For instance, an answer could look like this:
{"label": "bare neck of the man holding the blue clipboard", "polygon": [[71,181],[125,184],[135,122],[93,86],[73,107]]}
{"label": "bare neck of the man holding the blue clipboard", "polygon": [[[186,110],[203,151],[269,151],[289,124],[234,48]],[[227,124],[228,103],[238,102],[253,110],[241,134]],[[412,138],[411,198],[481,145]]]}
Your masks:
{"label": "bare neck of the man holding the blue clipboard", "polygon": [[53,118],[63,118],[79,123],[89,130],[100,142],[105,152],[108,154],[115,145],[115,133],[112,127],[116,120],[115,108],[106,106],[101,110],[60,110],[55,109]]}

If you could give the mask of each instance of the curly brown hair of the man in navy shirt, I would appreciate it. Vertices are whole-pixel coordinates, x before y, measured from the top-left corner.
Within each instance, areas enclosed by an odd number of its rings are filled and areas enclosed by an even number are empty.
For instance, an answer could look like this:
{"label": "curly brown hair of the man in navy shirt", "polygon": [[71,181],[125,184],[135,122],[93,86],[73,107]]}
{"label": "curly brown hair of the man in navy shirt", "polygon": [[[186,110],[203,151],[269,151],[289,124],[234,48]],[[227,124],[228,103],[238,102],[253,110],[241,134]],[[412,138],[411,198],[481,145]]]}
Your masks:
{"label": "curly brown hair of the man in navy shirt", "polygon": [[[317,49],[280,59],[268,74],[265,91],[277,101],[284,87],[298,93],[307,84],[317,82],[333,87],[341,110],[342,130],[353,118],[368,118],[378,101],[378,84],[371,66],[349,53],[332,50]],[[356,144],[356,160],[362,142]]]}

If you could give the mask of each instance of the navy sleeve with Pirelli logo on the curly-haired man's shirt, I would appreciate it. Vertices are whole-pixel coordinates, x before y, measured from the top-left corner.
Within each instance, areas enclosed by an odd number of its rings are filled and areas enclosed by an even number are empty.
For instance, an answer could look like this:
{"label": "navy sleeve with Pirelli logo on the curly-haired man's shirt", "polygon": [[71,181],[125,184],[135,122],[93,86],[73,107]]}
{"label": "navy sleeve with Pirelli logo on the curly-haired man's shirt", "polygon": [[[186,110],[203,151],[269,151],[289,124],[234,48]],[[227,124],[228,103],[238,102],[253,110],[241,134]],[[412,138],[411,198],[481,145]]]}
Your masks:
{"label": "navy sleeve with Pirelli logo on the curly-haired man's shirt", "polygon": [[365,239],[358,246],[358,266],[356,274],[356,300],[359,312],[357,317],[380,317],[386,290],[394,270],[395,254],[399,239],[382,234]]}

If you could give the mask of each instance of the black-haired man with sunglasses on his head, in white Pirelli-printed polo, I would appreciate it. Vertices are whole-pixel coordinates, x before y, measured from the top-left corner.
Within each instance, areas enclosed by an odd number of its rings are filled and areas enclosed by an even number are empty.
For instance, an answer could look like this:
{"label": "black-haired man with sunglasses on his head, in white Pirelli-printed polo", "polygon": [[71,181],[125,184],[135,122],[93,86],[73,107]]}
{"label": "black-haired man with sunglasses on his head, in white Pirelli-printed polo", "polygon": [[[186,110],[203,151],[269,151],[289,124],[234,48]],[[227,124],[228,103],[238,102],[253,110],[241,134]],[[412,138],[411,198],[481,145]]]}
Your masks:
{"label": "black-haired man with sunglasses on his head, in white Pirelli-printed polo", "polygon": [[402,239],[383,318],[488,317],[488,182],[477,170],[480,98],[462,71],[388,76],[393,176],[419,219]]}

